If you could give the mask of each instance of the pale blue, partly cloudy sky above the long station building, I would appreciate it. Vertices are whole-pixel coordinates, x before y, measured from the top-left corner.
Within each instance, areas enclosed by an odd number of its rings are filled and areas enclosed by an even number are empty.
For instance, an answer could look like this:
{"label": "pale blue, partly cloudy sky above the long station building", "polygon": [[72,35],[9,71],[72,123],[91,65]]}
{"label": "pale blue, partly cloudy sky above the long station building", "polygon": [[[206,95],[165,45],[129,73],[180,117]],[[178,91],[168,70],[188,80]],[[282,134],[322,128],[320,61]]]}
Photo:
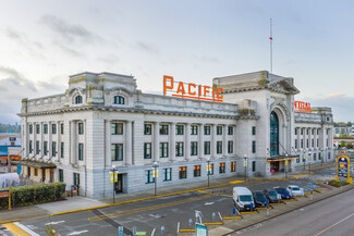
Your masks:
{"label": "pale blue, partly cloudy sky above the long station building", "polygon": [[81,72],[134,75],[145,92],[162,76],[270,70],[293,77],[296,100],[354,121],[353,1],[0,0],[0,123],[20,122],[23,98],[62,94]]}

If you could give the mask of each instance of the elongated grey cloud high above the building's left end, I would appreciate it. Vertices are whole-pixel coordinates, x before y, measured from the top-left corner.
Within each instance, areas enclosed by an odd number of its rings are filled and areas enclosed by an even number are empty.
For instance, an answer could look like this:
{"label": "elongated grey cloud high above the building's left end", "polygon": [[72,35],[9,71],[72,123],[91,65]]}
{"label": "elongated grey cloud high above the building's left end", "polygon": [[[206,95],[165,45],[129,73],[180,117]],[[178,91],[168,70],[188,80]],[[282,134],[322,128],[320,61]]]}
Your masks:
{"label": "elongated grey cloud high above the building's left end", "polygon": [[101,41],[102,38],[98,35],[91,33],[82,25],[70,24],[66,21],[56,16],[56,15],[44,15],[41,16],[41,22],[47,25],[54,33],[60,35],[63,39],[69,42],[81,40],[86,42]]}

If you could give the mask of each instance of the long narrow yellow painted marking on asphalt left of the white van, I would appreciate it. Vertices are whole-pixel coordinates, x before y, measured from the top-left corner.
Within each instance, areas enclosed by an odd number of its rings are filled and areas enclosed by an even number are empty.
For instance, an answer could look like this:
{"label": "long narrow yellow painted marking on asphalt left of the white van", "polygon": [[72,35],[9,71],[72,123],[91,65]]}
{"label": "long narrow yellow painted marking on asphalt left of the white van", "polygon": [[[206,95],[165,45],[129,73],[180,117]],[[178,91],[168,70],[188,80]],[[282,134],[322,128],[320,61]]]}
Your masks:
{"label": "long narrow yellow painted marking on asphalt left of the white van", "polygon": [[203,195],[200,197],[188,198],[188,199],[169,202],[169,203],[156,204],[156,206],[150,206],[150,207],[145,207],[145,208],[127,210],[127,211],[114,212],[114,213],[105,214],[105,215],[98,215],[98,216],[94,216],[94,218],[88,218],[87,220],[88,221],[102,221],[106,219],[119,218],[119,216],[123,216],[123,215],[127,215],[127,214],[135,214],[135,213],[141,213],[144,211],[151,211],[151,210],[157,210],[157,209],[161,209],[161,208],[168,208],[168,207],[173,207],[173,206],[178,206],[178,204],[190,203],[193,201],[199,201],[199,200],[204,200],[204,199],[208,199],[208,198],[212,198],[212,197],[215,197],[215,196]]}

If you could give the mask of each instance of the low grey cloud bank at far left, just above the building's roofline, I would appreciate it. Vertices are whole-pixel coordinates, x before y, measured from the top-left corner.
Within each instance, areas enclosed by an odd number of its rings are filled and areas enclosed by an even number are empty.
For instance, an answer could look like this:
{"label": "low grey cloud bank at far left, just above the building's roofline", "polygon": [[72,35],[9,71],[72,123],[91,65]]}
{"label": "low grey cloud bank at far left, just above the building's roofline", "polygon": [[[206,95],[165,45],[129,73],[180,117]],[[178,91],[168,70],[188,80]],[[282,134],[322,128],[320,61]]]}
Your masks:
{"label": "low grey cloud bank at far left, just above the building's roofline", "polygon": [[20,122],[16,115],[21,112],[23,98],[37,98],[61,94],[65,89],[63,79],[48,82],[32,82],[21,72],[0,65],[0,123]]}

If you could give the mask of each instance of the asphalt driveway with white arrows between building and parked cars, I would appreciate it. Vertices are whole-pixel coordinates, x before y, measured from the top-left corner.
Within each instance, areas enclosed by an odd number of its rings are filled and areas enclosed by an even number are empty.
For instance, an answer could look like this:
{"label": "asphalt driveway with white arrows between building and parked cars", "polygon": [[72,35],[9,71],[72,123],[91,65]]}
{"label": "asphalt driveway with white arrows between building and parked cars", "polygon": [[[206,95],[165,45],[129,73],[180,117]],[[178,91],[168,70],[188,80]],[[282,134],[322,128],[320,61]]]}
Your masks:
{"label": "asphalt driveway with white arrows between building and parked cars", "polygon": [[192,225],[194,225],[196,210],[202,211],[204,222],[210,223],[220,222],[218,212],[222,216],[232,215],[232,188],[234,186],[247,186],[251,190],[263,190],[274,186],[285,187],[289,184],[308,188],[307,185],[314,184],[314,181],[293,178],[289,181],[247,182],[206,191],[193,191],[57,215],[50,219],[25,220],[21,221],[20,224],[30,228],[38,235],[46,235],[45,229],[50,225],[58,228],[61,235],[117,235],[119,226],[124,226],[126,235],[132,235],[134,226],[138,232],[146,232],[147,235],[151,235],[155,228],[155,236],[161,235],[161,226],[164,226],[164,235],[175,235],[178,222],[180,222],[180,228],[192,228],[188,221],[192,219]]}

